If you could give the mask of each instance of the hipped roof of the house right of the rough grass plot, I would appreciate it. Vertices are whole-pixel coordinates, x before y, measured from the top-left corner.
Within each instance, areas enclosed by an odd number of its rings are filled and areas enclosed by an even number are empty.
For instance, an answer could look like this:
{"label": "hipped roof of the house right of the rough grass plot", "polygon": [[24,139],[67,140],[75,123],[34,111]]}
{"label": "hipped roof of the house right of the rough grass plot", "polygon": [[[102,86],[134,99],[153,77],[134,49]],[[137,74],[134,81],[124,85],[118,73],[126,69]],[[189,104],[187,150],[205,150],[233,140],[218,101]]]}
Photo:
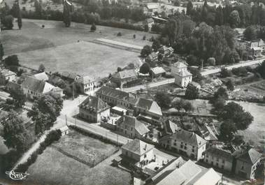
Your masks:
{"label": "hipped roof of the house right of the rough grass plot", "polygon": [[146,152],[150,151],[153,148],[154,148],[154,145],[150,145],[138,139],[134,139],[128,142],[126,145],[122,146],[122,149],[126,149],[140,156],[142,156],[143,154],[145,154]]}

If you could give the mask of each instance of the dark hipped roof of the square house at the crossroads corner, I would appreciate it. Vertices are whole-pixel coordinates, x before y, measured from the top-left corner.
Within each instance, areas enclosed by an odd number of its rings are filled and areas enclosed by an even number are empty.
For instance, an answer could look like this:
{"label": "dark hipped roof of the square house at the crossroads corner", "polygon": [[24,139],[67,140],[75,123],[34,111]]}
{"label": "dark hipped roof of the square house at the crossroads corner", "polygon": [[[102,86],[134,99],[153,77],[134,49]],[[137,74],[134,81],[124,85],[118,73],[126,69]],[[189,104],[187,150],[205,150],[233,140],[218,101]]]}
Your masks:
{"label": "dark hipped roof of the square house at the crossroads corner", "polygon": [[79,108],[99,113],[103,110],[109,109],[110,106],[108,106],[107,103],[103,102],[101,98],[98,98],[96,96],[88,96],[85,101],[80,103]]}

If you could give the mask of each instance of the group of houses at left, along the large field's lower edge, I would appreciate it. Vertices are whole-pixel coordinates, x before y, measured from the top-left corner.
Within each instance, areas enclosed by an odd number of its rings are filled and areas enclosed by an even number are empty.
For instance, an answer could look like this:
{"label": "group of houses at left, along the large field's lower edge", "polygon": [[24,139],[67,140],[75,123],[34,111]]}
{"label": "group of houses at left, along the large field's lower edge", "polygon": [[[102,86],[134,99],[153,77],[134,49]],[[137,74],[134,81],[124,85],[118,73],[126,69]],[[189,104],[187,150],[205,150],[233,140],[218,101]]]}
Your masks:
{"label": "group of houses at left, along the large field's lower edge", "polygon": [[[63,89],[55,87],[48,82],[49,76],[47,73],[36,73],[30,76],[24,76],[22,83],[18,83],[17,75],[13,71],[9,71],[6,68],[0,71],[0,84],[6,85],[7,89],[22,89],[24,94],[29,99],[37,98],[43,94],[57,94],[61,97],[64,96]],[[76,86],[79,87],[81,93],[87,93],[88,91],[93,91],[96,80],[90,77],[81,77],[74,73],[62,73],[61,77],[71,82],[76,82]]]}

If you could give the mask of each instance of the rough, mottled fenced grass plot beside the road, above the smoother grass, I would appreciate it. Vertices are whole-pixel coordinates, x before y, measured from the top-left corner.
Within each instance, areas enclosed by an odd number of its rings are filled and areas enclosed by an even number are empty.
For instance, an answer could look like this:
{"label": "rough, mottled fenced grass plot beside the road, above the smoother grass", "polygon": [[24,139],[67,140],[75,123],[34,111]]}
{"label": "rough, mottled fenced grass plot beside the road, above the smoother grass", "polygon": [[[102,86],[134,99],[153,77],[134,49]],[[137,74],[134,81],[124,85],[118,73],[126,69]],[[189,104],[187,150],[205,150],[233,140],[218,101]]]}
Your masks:
{"label": "rough, mottled fenced grass plot beside the road, above the smoother grass", "polygon": [[86,137],[76,131],[71,131],[69,135],[62,137],[59,142],[52,145],[89,163],[90,167],[108,158],[116,150],[113,145]]}

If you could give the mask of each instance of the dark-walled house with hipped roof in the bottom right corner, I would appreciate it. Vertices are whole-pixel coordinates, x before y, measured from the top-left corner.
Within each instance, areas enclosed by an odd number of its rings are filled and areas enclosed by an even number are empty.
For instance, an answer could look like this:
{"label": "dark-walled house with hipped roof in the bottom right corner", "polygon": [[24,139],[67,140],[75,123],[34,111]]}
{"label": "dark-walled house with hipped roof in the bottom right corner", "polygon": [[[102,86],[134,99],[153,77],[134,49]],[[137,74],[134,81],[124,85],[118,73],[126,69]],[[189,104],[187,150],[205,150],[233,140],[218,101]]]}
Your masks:
{"label": "dark-walled house with hipped roof in the bottom right corner", "polygon": [[242,149],[235,151],[233,156],[236,158],[235,174],[239,177],[255,179],[255,170],[262,154],[255,149]]}

